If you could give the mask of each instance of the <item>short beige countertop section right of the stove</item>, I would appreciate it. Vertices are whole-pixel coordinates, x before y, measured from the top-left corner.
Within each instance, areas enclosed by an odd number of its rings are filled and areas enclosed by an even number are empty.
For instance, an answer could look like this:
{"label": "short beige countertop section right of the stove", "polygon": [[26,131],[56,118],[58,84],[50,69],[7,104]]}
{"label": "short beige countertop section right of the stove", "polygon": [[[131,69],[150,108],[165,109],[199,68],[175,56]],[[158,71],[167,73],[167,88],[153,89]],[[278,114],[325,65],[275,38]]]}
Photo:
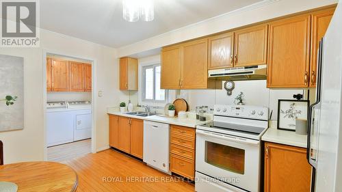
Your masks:
{"label": "short beige countertop section right of the stove", "polygon": [[300,148],[306,148],[307,146],[307,135],[298,135],[294,131],[279,130],[274,126],[267,129],[261,140]]}

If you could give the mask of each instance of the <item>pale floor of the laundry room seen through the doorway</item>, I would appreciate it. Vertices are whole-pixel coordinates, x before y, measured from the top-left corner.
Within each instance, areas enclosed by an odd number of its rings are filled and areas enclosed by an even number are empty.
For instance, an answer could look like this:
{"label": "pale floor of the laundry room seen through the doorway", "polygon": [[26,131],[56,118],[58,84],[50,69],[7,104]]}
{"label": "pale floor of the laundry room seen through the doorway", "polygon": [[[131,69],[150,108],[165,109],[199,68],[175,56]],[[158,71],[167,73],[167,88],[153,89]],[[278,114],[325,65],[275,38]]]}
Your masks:
{"label": "pale floor of the laundry room seen through the doorway", "polygon": [[47,161],[63,163],[92,152],[92,139],[47,148]]}

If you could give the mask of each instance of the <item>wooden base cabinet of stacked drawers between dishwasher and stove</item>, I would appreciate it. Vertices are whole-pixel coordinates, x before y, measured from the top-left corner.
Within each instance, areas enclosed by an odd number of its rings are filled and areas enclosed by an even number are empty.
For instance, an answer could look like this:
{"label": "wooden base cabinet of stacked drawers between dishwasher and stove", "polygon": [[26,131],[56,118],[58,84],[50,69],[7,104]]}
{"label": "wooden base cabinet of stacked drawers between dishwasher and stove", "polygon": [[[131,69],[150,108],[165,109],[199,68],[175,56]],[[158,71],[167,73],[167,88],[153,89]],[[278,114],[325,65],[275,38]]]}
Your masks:
{"label": "wooden base cabinet of stacked drawers between dishwasher and stove", "polygon": [[196,134],[194,128],[170,126],[170,171],[194,180]]}

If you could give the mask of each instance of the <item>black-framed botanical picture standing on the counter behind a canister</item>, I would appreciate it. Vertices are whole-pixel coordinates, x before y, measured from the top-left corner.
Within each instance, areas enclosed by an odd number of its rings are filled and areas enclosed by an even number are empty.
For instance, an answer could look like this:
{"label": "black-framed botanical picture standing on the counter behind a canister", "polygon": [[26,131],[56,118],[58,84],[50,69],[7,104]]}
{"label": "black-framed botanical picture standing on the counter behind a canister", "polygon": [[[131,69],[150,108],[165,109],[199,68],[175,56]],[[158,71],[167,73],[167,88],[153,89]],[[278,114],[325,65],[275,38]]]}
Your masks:
{"label": "black-framed botanical picture standing on the counter behind a canister", "polygon": [[295,131],[295,119],[308,119],[308,100],[278,100],[278,129]]}

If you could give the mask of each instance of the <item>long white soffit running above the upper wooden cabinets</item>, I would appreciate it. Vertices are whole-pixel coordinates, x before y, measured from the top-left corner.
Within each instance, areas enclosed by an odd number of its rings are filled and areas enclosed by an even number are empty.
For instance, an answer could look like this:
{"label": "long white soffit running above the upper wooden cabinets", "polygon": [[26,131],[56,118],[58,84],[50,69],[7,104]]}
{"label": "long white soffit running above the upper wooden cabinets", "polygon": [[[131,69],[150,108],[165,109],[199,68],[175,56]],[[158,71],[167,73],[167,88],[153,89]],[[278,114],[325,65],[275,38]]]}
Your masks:
{"label": "long white soffit running above the upper wooden cabinets", "polygon": [[148,38],[134,44],[120,47],[120,49],[118,49],[118,56],[124,57],[137,53],[139,53],[137,55],[146,55],[142,53],[148,53],[149,51],[159,49],[160,47],[167,46],[169,44],[175,44],[177,42],[183,42],[193,38],[208,36],[212,33],[226,31],[228,29],[234,29],[236,27],[242,27],[252,23],[258,23],[263,20],[269,20],[296,12],[311,10],[337,2],[337,0],[261,1],[261,3],[257,3],[247,8],[242,8],[241,10],[216,16],[193,25],[188,25],[180,29],[163,33],[153,38]]}

